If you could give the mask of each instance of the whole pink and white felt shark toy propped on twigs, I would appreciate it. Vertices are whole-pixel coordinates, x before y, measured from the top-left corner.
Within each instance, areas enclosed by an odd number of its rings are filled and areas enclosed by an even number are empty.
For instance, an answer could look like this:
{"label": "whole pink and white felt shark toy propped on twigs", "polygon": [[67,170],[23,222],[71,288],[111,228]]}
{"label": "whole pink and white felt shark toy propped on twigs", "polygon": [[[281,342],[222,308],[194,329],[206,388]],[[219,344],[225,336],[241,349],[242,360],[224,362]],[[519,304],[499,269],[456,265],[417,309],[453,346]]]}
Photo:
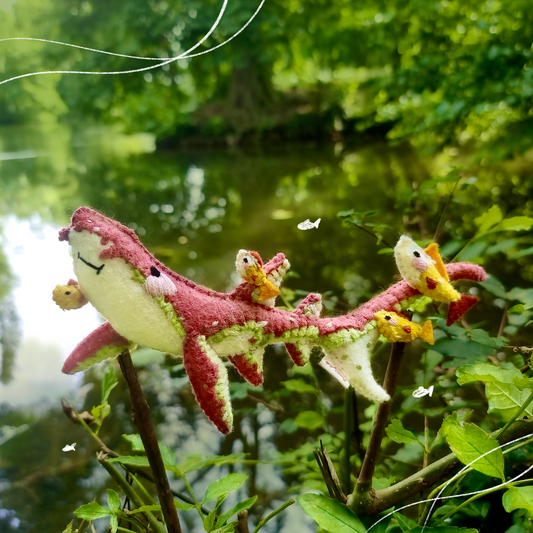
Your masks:
{"label": "whole pink and white felt shark toy propped on twigs", "polygon": [[[321,346],[324,364],[339,381],[372,401],[389,395],[378,385],[370,355],[379,337],[374,313],[394,310],[420,293],[401,281],[348,315],[320,318],[320,296],[310,294],[292,312],[253,301],[246,281],[230,293],[206,289],[173,272],[151,255],[135,232],[89,207],[80,207],[60,231],[68,241],[74,271],[85,297],[107,319],[65,361],[63,372],[84,370],[143,345],[183,357],[192,389],[206,416],[222,433],[232,429],[228,358],[240,374],[262,382],[263,353],[283,342],[293,361],[305,364],[313,346]],[[263,268],[279,286],[287,268],[278,254]],[[447,265],[451,280],[486,279],[470,263]]]}

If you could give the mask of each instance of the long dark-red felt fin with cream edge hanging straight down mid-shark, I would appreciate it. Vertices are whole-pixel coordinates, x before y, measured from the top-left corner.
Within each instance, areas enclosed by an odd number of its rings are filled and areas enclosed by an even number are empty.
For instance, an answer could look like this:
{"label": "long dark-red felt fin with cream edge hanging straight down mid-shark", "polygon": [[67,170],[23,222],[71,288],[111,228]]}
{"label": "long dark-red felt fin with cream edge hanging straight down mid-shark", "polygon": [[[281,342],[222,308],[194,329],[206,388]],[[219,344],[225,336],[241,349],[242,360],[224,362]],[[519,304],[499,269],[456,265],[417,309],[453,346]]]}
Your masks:
{"label": "long dark-red felt fin with cream edge hanging straight down mid-shark", "polygon": [[204,336],[187,335],[183,364],[192,390],[205,415],[225,435],[233,427],[228,372]]}

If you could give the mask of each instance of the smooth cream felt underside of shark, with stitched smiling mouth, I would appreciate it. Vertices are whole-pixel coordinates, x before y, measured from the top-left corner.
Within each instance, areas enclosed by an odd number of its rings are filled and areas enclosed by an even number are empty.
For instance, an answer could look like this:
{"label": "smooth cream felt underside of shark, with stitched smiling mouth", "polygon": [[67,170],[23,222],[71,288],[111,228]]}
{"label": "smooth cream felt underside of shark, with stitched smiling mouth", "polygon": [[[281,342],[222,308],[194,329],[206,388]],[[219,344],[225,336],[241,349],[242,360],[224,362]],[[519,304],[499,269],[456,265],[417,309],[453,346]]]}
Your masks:
{"label": "smooth cream felt underside of shark, with stitched smiling mouth", "polygon": [[[136,344],[182,355],[183,337],[158,300],[134,281],[133,267],[121,258],[100,259],[100,238],[88,231],[71,232],[69,242],[81,291],[113,328]],[[97,272],[87,262],[104,266]]]}

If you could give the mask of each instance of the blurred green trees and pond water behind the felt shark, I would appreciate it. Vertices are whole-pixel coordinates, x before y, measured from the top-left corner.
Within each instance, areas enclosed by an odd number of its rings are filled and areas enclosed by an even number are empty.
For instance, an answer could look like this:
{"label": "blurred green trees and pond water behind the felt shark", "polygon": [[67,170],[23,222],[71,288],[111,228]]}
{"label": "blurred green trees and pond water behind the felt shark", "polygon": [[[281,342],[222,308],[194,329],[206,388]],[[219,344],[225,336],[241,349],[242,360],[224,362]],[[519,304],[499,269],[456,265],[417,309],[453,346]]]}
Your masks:
{"label": "blurred green trees and pond water behind the felt shark", "polygon": [[[238,31],[257,4],[230,0],[199,50]],[[200,40],[220,7],[0,0],[0,37],[169,58]],[[60,371],[101,323],[90,306],[63,312],[51,299],[55,285],[73,276],[57,232],[74,209],[90,205],[115,217],[170,268],[220,291],[238,282],[240,248],[264,259],[284,252],[292,272],[279,305],[316,291],[327,313],[346,313],[396,281],[389,245],[403,232],[431,240],[444,209],[436,237],[448,259],[493,204],[506,216],[533,215],[532,40],[526,0],[267,0],[241,35],[198,58],[145,73],[0,85],[0,530],[62,531],[75,508],[109,486],[94,444],[60,404],[66,397],[79,410],[96,405],[105,370]],[[146,65],[0,42],[0,81]],[[355,214],[343,225],[337,213],[347,210]],[[307,218],[321,218],[319,228],[299,230]],[[533,287],[531,254],[529,231],[489,235],[461,253],[500,283],[482,295],[472,321],[483,316],[484,327],[498,332],[505,291]],[[516,315],[507,333],[530,315]],[[237,429],[221,438],[179,364],[148,350],[136,361],[161,440],[176,453],[245,452],[270,461],[231,467],[249,473],[246,491],[259,495],[254,523],[288,492],[322,487],[312,448],[321,432],[340,435],[343,390],[319,367],[294,369],[274,346],[263,388],[232,373]],[[386,354],[375,360],[378,381],[385,362]],[[289,379],[311,389],[284,387]],[[122,380],[110,402],[102,438],[128,450],[121,435],[134,428]],[[319,405],[314,427],[291,415],[302,405]],[[366,400],[358,409],[362,423],[371,420]],[[72,442],[76,452],[61,451]],[[226,471],[202,471],[195,482],[205,487]],[[314,531],[293,506],[265,531],[305,527]]]}

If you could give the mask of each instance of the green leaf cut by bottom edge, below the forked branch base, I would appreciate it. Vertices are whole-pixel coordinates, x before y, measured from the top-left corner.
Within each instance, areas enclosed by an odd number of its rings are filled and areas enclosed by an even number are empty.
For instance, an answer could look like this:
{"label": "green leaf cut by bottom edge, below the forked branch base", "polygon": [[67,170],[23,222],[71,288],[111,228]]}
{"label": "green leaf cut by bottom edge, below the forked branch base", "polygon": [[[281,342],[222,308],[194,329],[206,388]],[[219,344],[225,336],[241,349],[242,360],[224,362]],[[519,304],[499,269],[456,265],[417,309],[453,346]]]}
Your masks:
{"label": "green leaf cut by bottom edge, below the forked branch base", "polygon": [[302,494],[296,498],[304,513],[331,533],[365,533],[359,518],[342,503],[322,494]]}

